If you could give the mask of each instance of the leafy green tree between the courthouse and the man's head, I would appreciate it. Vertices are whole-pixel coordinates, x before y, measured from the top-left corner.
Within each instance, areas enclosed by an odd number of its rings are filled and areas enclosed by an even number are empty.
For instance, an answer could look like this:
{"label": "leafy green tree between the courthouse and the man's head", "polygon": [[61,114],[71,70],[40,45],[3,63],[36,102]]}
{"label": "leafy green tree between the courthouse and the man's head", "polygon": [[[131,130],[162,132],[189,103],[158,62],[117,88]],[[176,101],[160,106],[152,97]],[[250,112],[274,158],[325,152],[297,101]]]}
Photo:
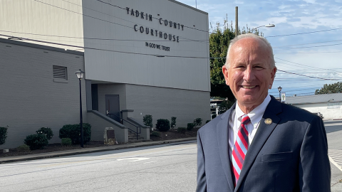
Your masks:
{"label": "leafy green tree between the courthouse and the man's head", "polygon": [[[212,28],[212,33],[209,36],[209,55],[210,55],[210,85],[211,92],[210,96],[212,97],[224,97],[228,98],[228,100],[233,101],[234,95],[230,88],[226,85],[224,76],[222,74],[222,66],[226,63],[227,50],[230,41],[235,37],[235,29],[233,28],[233,24],[229,24],[227,18],[224,19],[223,29],[220,26],[220,23],[216,23],[216,28]],[[239,34],[241,33],[249,33],[252,31],[248,26],[242,28],[242,31],[239,30]],[[259,31],[255,30],[254,34],[259,36]],[[260,36],[263,36],[263,33],[260,33]]]}

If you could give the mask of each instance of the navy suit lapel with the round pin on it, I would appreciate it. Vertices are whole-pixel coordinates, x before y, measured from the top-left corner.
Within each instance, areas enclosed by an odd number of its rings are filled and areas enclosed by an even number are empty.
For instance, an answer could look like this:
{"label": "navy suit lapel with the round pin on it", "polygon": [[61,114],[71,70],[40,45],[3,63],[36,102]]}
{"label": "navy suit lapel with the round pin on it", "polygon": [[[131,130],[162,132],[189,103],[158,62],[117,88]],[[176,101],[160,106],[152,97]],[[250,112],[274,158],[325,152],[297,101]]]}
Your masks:
{"label": "navy suit lapel with the round pin on it", "polygon": [[[237,181],[237,186],[235,188],[235,191],[239,188],[242,181],[244,181],[244,178],[247,176],[249,169],[251,169],[252,164],[254,163],[255,159],[257,158],[257,155],[259,154],[259,151],[264,146],[265,142],[273,132],[274,128],[280,121],[280,118],[276,116],[276,114],[279,114],[281,112],[281,103],[276,101],[274,97],[271,97],[271,101],[269,102],[269,105],[266,107],[266,110],[264,112],[263,117],[261,118],[257,133],[254,136],[252,144],[249,146],[249,149],[247,151],[244,165],[242,167],[239,181]],[[272,119],[271,124],[265,124],[265,119]]]}

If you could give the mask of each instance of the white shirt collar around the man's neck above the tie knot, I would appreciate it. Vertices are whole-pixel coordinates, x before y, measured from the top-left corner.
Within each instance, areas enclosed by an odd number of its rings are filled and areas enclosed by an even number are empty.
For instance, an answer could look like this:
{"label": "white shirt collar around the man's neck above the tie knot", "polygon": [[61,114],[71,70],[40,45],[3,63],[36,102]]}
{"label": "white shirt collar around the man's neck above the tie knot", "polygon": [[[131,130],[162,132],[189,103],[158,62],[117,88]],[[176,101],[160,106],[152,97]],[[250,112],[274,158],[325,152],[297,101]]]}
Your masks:
{"label": "white shirt collar around the man's neck above the tie knot", "polygon": [[[271,96],[267,95],[266,98],[264,99],[264,102],[262,102],[260,105],[254,108],[252,112],[249,112],[247,115],[249,119],[251,119],[251,122],[253,125],[258,124],[264,115],[264,112],[266,110],[267,105],[269,105],[269,102],[271,101]],[[241,122],[241,117],[244,115],[244,112],[240,109],[239,105],[237,104],[235,107],[235,118]]]}

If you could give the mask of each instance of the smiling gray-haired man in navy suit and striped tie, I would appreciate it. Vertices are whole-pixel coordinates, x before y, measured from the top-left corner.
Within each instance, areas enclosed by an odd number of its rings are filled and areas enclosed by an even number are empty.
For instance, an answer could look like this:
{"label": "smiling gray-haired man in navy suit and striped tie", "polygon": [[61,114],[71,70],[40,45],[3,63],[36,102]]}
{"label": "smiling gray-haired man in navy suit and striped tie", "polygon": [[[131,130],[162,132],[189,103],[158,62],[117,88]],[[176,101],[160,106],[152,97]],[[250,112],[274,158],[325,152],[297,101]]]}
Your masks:
{"label": "smiling gray-haired man in navy suit and striped tie", "polygon": [[331,191],[321,118],[268,94],[269,42],[237,36],[222,71],[237,102],[197,133],[197,191]]}

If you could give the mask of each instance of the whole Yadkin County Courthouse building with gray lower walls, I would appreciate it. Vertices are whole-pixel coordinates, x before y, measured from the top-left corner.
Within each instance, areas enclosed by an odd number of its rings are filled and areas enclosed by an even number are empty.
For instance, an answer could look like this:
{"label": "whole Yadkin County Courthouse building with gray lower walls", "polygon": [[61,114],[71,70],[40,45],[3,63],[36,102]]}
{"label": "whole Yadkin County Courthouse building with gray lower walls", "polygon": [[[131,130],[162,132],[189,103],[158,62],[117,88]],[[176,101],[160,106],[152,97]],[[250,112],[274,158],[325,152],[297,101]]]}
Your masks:
{"label": "whole Yadkin County Courthouse building with gray lower walls", "polygon": [[[142,117],[210,118],[208,14],[173,0],[0,0],[0,127],[8,149],[51,127],[83,122],[118,142]],[[119,119],[123,118],[124,120]],[[134,124],[134,125],[133,125]]]}

